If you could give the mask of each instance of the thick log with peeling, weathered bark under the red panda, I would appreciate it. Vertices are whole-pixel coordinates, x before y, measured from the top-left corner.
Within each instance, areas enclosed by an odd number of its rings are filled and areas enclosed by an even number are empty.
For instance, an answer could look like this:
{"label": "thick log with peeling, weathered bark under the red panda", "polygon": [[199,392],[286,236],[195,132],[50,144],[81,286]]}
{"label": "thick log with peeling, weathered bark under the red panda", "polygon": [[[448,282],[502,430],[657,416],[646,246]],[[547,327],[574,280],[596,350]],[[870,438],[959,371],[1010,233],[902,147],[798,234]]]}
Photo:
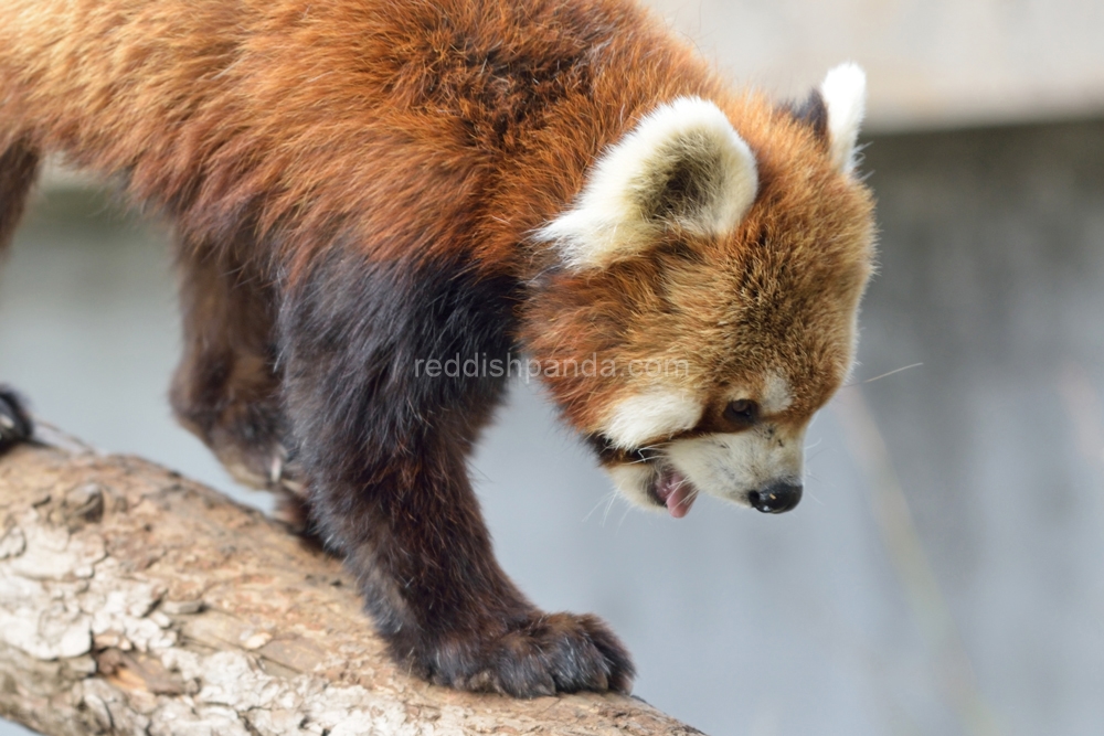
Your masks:
{"label": "thick log with peeling, weathered bark under the red panda", "polygon": [[338,561],[131,457],[0,458],[0,713],[45,734],[700,732],[615,695],[411,679]]}

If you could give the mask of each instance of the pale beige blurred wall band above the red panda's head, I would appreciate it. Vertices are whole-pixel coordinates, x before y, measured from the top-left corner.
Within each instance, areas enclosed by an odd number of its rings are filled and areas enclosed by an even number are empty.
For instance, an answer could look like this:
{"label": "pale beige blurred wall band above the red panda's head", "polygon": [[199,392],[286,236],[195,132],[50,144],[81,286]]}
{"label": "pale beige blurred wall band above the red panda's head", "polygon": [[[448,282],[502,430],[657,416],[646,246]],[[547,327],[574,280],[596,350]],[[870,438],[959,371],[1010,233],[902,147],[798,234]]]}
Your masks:
{"label": "pale beige blurred wall band above the red panda's head", "polygon": [[649,0],[734,78],[800,95],[853,60],[879,130],[1104,111],[1096,0]]}

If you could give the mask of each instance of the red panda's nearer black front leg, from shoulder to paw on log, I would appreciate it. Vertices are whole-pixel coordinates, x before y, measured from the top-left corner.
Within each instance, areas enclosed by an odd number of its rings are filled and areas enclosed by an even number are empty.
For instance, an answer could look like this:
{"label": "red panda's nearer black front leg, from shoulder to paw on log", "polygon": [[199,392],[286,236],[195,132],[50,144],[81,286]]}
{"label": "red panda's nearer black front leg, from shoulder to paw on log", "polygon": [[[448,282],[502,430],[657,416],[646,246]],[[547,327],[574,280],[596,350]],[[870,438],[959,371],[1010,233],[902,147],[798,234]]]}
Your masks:
{"label": "red panda's nearer black front leg, from shoulder to paw on log", "polygon": [[[506,576],[468,481],[506,387],[482,359],[512,348],[516,288],[455,263],[337,252],[293,285],[285,397],[316,521],[404,669],[521,697],[627,692],[633,664],[601,620],[546,615]],[[454,359],[480,366],[443,367]]]}

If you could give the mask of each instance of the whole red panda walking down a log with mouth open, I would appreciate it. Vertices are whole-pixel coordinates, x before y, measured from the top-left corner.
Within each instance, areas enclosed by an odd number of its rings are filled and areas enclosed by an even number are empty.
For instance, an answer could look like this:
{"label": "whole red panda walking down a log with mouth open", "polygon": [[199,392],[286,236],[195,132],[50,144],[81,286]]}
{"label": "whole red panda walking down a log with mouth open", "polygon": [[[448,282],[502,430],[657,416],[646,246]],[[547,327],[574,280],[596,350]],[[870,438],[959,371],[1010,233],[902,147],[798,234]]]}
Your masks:
{"label": "whole red panda walking down a log with mouth open", "polygon": [[394,659],[628,692],[497,564],[466,458],[506,376],[442,364],[523,353],[643,506],[792,509],[871,273],[863,104],[853,65],[734,90],[628,0],[6,0],[0,245],[46,154],[162,213],[177,416],[301,494]]}

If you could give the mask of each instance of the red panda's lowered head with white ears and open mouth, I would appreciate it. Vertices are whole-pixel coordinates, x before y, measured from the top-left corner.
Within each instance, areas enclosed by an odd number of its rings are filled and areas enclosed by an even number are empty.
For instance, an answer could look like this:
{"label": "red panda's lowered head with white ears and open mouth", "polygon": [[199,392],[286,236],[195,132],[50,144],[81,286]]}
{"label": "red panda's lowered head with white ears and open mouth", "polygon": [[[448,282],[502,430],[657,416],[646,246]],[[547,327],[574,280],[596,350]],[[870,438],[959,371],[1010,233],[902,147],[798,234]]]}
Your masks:
{"label": "red panda's lowered head with white ears and open mouth", "polygon": [[854,175],[864,76],[804,108],[658,106],[538,232],[560,267],[527,343],[618,490],[683,515],[698,492],[788,511],[805,430],[842,385],[872,269]]}

